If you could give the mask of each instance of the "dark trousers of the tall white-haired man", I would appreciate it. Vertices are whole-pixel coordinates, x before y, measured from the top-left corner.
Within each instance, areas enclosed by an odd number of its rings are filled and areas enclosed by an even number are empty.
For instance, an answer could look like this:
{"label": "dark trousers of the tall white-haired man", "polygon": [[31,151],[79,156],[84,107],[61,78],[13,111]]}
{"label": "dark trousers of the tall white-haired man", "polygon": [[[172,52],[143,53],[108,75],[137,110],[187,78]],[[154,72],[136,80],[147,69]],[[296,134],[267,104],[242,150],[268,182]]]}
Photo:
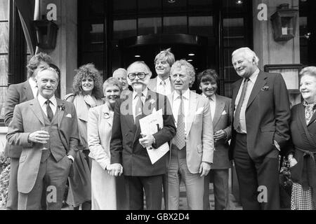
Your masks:
{"label": "dark trousers of the tall white-haired man", "polygon": [[233,156],[243,209],[279,209],[279,153],[277,149],[260,160],[253,160],[246,148],[246,134],[237,134],[235,140]]}

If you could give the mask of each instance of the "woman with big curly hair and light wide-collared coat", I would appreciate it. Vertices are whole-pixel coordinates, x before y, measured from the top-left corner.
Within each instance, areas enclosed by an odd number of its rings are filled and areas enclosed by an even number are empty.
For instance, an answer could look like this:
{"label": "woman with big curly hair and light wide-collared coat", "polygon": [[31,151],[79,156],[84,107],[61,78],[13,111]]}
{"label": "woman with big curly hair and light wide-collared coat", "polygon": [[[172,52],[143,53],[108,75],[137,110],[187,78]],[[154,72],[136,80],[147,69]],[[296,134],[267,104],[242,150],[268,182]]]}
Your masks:
{"label": "woman with big curly hair and light wide-collared coat", "polygon": [[79,128],[79,151],[74,159],[74,176],[69,178],[67,204],[75,210],[91,209],[91,159],[87,141],[87,123],[89,109],[104,104],[103,81],[94,64],[80,66],[74,76],[73,93],[67,94],[65,100],[72,102],[77,111]]}

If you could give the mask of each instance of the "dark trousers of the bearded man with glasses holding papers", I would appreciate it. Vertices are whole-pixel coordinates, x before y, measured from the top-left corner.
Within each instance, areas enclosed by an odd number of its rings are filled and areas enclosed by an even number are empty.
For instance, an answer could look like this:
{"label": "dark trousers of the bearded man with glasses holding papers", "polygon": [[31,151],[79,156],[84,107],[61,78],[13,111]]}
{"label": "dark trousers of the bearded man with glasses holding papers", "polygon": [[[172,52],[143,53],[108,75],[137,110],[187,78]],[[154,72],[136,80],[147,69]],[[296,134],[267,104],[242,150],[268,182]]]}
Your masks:
{"label": "dark trousers of the bearded man with glasses holding papers", "polygon": [[164,174],[157,176],[124,176],[129,209],[144,209],[145,190],[146,209],[161,210],[163,176]]}

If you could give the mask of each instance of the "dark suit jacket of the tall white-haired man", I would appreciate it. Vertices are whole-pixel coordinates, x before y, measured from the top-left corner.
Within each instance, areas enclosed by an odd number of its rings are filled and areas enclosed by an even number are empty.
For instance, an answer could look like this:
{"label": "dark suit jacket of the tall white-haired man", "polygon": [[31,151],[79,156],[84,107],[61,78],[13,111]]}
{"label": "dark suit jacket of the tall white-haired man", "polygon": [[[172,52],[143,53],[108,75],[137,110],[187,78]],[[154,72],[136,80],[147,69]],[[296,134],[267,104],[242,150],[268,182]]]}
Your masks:
{"label": "dark suit jacket of the tall white-haired man", "polygon": [[[242,79],[232,85],[232,111]],[[261,160],[272,151],[277,151],[274,141],[281,150],[289,140],[290,119],[289,94],[280,73],[260,71],[246,106],[247,150],[254,160]],[[232,124],[233,124],[232,120]],[[235,130],[232,126],[230,159],[235,146]]]}

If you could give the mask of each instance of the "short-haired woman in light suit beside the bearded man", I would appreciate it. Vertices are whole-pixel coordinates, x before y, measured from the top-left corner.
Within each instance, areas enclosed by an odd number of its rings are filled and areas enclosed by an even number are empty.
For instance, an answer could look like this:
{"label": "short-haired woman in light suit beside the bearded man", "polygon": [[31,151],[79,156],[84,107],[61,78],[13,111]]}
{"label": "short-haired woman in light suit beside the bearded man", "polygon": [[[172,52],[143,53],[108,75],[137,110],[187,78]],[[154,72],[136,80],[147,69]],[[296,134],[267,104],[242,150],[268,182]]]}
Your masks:
{"label": "short-haired woman in light suit beside the bearded man", "polygon": [[91,200],[92,210],[126,209],[124,176],[111,176],[110,139],[114,104],[121,94],[121,83],[108,78],[103,84],[105,104],[91,109],[88,113],[88,145],[92,160]]}

